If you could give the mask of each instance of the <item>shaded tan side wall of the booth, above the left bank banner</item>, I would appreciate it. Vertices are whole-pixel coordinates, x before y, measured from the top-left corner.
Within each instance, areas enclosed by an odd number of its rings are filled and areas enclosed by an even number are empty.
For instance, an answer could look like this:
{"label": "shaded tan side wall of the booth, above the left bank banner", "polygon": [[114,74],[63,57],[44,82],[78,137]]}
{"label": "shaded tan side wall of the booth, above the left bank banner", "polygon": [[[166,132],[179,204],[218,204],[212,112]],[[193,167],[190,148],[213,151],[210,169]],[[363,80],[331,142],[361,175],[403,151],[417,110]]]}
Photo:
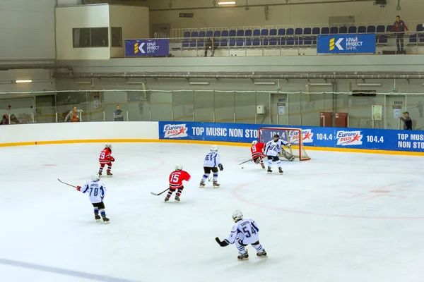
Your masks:
{"label": "shaded tan side wall of the booth, above the left bank banner", "polygon": [[[122,39],[141,39],[149,37],[149,13],[147,7],[109,6],[110,27],[122,27]],[[111,43],[110,38],[110,43]],[[112,58],[123,57],[125,46],[111,47]]]}

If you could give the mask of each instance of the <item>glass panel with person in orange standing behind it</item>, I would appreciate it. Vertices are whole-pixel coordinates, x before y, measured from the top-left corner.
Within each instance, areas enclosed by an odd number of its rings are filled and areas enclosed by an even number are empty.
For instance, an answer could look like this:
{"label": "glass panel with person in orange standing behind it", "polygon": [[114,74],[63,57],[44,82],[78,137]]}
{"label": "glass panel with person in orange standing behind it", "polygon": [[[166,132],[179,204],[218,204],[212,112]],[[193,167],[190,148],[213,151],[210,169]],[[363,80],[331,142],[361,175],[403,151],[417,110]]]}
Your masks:
{"label": "glass panel with person in orange standing behind it", "polygon": [[[90,109],[90,102],[87,102],[86,92],[61,92],[56,96],[57,119],[59,123],[67,121],[88,121],[87,111]],[[81,119],[80,119],[81,117]]]}

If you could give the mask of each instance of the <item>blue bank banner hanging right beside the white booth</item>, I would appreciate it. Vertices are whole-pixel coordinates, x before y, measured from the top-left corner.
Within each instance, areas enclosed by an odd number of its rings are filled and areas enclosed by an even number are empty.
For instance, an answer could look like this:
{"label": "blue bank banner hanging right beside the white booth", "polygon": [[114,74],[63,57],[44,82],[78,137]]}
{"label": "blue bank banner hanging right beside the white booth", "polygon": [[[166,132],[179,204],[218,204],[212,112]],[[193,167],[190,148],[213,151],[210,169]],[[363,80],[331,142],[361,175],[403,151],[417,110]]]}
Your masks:
{"label": "blue bank banner hanging right beside the white booth", "polygon": [[125,40],[125,56],[168,56],[170,39]]}

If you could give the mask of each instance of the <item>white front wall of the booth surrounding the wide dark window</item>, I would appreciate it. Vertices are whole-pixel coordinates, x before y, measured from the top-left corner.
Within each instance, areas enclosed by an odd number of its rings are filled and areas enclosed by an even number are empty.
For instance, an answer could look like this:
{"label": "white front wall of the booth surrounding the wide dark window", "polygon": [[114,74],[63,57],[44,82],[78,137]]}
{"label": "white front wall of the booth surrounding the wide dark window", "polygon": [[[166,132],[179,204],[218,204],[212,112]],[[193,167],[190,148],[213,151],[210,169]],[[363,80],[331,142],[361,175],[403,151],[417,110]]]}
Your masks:
{"label": "white front wall of the booth surrounding the wide dark window", "polygon": [[56,8],[57,59],[110,59],[110,47],[73,48],[72,29],[78,27],[110,27],[109,6],[86,5]]}

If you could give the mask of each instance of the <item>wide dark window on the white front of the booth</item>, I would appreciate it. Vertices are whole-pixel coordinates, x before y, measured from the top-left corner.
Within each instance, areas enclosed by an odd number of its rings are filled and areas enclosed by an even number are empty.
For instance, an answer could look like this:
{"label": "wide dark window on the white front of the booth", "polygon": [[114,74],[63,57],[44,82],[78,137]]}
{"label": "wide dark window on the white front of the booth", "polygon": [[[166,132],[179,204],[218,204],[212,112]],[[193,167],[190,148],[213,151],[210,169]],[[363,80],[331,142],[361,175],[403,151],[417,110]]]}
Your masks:
{"label": "wide dark window on the white front of the booth", "polygon": [[73,48],[109,47],[107,27],[73,28]]}

